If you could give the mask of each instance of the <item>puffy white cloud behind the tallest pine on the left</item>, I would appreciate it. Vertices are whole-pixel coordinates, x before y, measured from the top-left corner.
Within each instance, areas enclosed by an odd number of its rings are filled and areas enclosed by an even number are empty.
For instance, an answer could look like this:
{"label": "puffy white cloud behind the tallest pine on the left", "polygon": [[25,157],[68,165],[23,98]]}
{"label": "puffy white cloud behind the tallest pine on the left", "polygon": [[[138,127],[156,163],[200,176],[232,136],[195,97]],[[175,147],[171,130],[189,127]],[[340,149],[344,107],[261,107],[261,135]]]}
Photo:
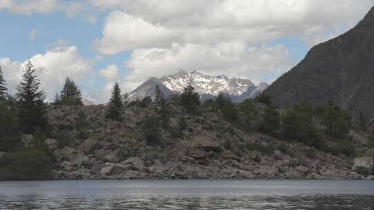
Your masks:
{"label": "puffy white cloud behind the tallest pine on the left", "polygon": [[[86,79],[91,73],[92,64],[85,60],[75,46],[57,47],[48,50],[44,54],[30,57],[41,81],[41,88],[47,93],[47,99],[53,99],[57,91],[60,91],[66,77],[71,77],[75,82]],[[26,61],[27,61],[26,60]],[[17,85],[21,81],[23,66],[26,61],[11,61],[10,58],[0,58],[0,66],[8,82],[10,94],[17,92]]]}

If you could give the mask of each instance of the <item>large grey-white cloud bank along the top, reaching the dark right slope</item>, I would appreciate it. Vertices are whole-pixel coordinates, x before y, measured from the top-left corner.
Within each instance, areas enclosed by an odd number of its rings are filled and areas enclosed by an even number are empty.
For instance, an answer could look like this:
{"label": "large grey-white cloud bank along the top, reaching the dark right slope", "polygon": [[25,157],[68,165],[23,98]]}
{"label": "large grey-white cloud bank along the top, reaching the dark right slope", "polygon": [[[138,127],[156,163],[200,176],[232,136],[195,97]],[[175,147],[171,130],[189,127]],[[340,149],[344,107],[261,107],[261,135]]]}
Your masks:
{"label": "large grey-white cloud bank along the top, reaching the dark right slope", "polygon": [[353,26],[374,3],[373,0],[89,2],[101,9],[123,9],[109,13],[103,37],[96,41],[99,52],[105,55],[139,48],[170,48],[173,43],[260,44],[287,35],[315,39],[342,25]]}

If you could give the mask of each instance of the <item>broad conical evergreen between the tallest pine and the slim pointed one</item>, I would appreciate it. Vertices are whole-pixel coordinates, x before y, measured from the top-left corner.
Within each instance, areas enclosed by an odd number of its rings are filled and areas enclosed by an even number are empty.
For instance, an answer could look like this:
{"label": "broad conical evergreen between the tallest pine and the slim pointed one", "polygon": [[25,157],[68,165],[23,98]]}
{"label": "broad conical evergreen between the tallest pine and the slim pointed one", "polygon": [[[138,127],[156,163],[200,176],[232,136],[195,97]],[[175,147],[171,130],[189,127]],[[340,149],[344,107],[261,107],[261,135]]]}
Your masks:
{"label": "broad conical evergreen between the tallest pine and the slim pointed one", "polygon": [[80,90],[69,77],[66,78],[64,88],[61,90],[60,103],[63,105],[83,105]]}

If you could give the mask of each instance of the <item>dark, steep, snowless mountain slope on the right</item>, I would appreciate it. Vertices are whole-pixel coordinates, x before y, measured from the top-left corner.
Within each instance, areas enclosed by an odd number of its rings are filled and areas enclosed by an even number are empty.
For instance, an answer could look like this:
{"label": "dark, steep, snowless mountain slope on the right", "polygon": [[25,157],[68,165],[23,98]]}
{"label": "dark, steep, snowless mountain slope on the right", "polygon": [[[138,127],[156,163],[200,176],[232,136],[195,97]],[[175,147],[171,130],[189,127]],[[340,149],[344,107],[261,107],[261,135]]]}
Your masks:
{"label": "dark, steep, snowless mountain slope on the right", "polygon": [[344,35],[314,46],[266,93],[278,107],[332,102],[355,120],[374,121],[374,8]]}

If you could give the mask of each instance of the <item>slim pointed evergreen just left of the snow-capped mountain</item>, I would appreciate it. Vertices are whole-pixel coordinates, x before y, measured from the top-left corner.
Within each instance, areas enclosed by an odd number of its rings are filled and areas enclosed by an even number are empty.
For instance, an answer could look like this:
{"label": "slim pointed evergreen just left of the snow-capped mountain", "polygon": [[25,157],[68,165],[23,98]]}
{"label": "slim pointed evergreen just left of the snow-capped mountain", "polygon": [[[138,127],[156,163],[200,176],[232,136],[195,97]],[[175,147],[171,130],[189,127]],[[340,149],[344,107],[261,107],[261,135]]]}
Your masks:
{"label": "slim pointed evergreen just left of the snow-capped mountain", "polygon": [[123,120],[122,117],[122,110],[123,110],[123,100],[121,97],[121,88],[116,82],[112,89],[112,97],[110,97],[109,104],[108,104],[108,114],[112,120]]}

